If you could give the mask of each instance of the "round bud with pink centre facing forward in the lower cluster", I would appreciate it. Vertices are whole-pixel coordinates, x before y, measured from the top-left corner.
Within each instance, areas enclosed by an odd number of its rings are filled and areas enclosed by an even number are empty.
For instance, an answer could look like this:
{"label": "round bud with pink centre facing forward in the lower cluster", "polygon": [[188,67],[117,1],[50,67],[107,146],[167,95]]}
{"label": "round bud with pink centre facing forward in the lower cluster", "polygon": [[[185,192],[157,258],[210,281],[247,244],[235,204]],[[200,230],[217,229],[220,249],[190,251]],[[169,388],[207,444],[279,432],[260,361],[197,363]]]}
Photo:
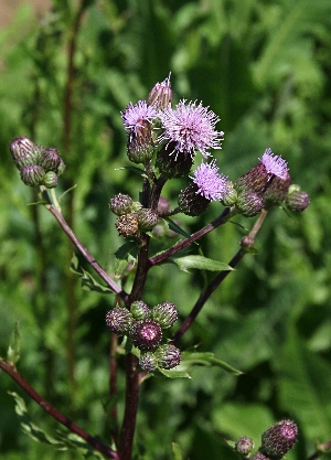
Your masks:
{"label": "round bud with pink centre facing forward in the lower cluster", "polygon": [[162,340],[162,329],[154,321],[137,321],[130,329],[130,339],[139,350],[153,350]]}

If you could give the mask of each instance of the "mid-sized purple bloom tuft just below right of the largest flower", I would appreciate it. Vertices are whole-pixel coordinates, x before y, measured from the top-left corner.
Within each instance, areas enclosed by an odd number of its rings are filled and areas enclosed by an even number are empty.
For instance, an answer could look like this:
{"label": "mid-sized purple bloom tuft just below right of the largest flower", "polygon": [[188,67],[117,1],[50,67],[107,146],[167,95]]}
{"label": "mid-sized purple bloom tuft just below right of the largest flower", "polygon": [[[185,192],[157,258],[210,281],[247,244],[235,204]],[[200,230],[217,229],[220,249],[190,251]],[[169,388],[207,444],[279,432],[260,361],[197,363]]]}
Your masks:
{"label": "mid-sized purple bloom tuft just below right of the largest flower", "polygon": [[227,193],[227,178],[218,173],[216,161],[209,163],[201,163],[194,171],[193,182],[197,185],[200,195],[205,199],[222,200]]}

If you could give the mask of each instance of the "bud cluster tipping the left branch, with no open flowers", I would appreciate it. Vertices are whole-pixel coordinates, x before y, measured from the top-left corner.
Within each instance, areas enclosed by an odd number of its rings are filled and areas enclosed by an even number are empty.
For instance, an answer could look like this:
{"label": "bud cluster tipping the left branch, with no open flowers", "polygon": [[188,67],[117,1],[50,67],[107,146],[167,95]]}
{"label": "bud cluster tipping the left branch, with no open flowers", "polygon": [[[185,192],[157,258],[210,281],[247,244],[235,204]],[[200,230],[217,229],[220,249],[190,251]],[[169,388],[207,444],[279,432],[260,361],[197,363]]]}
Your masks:
{"label": "bud cluster tipping the left branch, with no open flowers", "polygon": [[38,146],[21,136],[11,142],[10,151],[24,184],[47,189],[57,185],[65,164],[56,149]]}

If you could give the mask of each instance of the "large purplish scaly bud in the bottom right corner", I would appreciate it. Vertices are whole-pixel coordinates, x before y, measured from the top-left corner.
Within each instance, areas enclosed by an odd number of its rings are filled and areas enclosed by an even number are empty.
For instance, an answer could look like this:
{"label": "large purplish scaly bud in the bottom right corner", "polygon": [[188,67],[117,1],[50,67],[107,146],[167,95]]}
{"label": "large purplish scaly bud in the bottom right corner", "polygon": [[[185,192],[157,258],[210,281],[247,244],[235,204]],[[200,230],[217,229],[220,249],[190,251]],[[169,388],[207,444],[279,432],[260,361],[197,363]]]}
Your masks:
{"label": "large purplish scaly bud in the bottom right corner", "polygon": [[263,434],[259,450],[273,459],[281,459],[295,446],[297,437],[298,426],[292,420],[278,421]]}

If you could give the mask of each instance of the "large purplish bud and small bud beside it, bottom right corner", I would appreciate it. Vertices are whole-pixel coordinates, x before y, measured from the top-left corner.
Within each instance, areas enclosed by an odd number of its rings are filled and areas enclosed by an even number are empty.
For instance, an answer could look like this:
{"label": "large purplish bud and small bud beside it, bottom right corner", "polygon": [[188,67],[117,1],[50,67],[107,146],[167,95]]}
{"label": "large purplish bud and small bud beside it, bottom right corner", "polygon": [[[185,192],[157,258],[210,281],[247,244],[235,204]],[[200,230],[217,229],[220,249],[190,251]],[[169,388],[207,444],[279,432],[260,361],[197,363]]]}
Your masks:
{"label": "large purplish bud and small bud beside it, bottom right corner", "polygon": [[261,436],[261,445],[256,453],[250,456],[254,441],[246,436],[241,438],[235,450],[243,459],[280,460],[295,446],[298,438],[298,426],[292,420],[278,421]]}

